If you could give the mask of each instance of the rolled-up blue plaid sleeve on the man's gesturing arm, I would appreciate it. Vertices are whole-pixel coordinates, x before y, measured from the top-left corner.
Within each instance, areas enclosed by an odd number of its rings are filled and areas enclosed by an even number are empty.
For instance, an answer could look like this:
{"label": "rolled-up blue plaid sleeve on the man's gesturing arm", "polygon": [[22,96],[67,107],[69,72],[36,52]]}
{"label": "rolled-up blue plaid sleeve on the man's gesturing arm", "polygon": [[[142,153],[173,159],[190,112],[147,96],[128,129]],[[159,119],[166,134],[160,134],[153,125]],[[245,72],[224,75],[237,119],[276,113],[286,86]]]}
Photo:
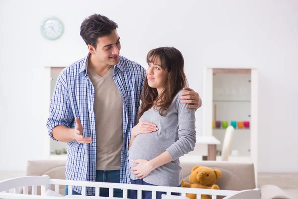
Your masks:
{"label": "rolled-up blue plaid sleeve on the man's gesturing arm", "polygon": [[52,134],[56,126],[64,125],[68,128],[74,122],[74,114],[71,108],[68,91],[62,84],[61,75],[57,80],[57,84],[50,101],[50,116],[47,120],[47,128],[49,136],[57,141]]}

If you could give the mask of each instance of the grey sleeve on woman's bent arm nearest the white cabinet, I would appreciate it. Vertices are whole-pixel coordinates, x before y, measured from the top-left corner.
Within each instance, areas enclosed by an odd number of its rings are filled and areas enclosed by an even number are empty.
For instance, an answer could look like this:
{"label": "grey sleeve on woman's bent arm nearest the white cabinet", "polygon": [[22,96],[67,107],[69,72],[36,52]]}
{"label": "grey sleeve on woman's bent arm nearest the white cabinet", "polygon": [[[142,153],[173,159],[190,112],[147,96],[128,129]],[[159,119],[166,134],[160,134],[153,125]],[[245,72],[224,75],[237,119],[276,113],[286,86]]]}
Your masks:
{"label": "grey sleeve on woman's bent arm nearest the white cabinet", "polygon": [[195,109],[187,108],[187,104],[182,103],[180,99],[176,102],[178,110],[178,140],[166,149],[172,160],[176,160],[193,151],[196,145]]}

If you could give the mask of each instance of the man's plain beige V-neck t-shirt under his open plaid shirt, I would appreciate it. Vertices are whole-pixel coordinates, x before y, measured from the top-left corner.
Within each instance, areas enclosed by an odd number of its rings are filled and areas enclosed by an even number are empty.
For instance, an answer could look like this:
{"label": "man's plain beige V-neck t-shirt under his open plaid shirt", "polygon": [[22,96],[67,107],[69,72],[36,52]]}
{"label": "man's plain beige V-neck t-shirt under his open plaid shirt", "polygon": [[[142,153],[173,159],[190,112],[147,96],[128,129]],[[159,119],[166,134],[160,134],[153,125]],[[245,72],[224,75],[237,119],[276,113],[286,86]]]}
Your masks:
{"label": "man's plain beige V-neck t-shirt under his open plaid shirt", "polygon": [[113,79],[114,67],[103,77],[91,67],[87,70],[95,90],[96,170],[119,170],[123,145],[123,103]]}

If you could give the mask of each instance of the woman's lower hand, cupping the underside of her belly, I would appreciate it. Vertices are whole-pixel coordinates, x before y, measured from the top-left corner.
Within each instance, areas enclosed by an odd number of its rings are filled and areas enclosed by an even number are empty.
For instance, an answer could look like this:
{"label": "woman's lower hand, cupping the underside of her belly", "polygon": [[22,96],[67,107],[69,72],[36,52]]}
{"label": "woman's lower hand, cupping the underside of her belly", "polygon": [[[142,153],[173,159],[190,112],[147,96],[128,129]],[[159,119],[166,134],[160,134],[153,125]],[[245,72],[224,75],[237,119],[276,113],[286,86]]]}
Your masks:
{"label": "woman's lower hand, cupping the underside of her belly", "polygon": [[137,166],[131,168],[131,171],[134,171],[132,174],[140,179],[145,178],[151,173],[151,171],[154,170],[152,161],[139,159],[132,160],[132,162],[138,164]]}

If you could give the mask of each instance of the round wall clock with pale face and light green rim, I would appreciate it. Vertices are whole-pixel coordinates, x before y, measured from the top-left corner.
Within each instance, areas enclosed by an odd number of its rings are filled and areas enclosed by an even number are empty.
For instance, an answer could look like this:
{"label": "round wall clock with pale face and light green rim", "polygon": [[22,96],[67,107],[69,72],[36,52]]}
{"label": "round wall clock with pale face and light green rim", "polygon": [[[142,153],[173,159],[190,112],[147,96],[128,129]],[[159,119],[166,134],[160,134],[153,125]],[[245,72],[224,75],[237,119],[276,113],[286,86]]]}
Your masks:
{"label": "round wall clock with pale face and light green rim", "polygon": [[63,23],[57,18],[49,18],[41,24],[42,35],[50,40],[58,39],[64,31]]}

